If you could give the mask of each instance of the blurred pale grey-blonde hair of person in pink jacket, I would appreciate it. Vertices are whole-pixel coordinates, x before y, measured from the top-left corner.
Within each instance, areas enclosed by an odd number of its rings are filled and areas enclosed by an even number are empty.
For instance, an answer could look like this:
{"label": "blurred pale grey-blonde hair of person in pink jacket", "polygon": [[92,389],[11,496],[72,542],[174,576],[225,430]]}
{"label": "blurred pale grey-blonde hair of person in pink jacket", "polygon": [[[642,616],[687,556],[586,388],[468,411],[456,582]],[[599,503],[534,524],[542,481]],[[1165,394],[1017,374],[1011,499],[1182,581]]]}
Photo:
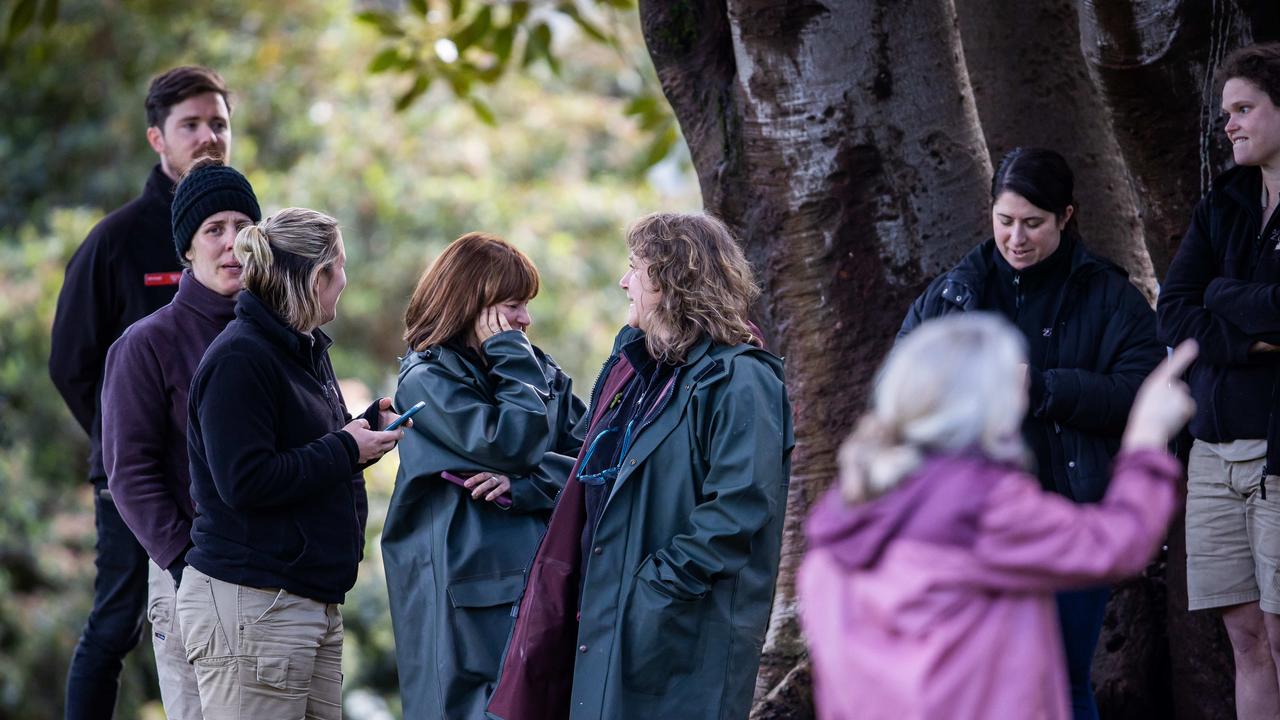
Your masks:
{"label": "blurred pale grey-blonde hair of person in pink jacket", "polygon": [[1023,462],[1023,363],[1025,341],[991,313],[929,320],[900,341],[877,374],[870,410],[840,448],[845,500],[888,492],[929,455]]}

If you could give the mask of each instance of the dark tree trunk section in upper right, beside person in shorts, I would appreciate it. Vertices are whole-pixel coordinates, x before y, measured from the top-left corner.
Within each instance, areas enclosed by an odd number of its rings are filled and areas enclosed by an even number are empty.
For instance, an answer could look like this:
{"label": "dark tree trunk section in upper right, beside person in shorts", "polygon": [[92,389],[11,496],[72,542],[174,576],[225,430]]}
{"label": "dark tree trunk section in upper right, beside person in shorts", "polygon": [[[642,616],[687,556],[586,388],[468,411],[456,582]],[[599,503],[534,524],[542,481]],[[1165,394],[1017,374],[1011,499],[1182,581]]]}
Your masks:
{"label": "dark tree trunk section in upper right, beside person in shorts", "polygon": [[1277,14],[1266,0],[1079,3],[1080,50],[1142,200],[1157,279],[1230,159],[1213,72],[1254,37],[1280,37]]}

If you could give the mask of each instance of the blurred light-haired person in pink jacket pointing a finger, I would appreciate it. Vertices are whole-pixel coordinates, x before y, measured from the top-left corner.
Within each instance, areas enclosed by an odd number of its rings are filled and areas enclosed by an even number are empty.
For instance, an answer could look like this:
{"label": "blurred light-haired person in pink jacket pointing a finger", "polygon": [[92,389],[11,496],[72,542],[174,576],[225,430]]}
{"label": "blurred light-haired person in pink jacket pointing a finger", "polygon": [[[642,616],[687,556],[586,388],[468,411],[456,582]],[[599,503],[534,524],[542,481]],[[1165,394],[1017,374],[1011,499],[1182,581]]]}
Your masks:
{"label": "blurred light-haired person in pink jacket pointing a finger", "polygon": [[1106,497],[1076,505],[1027,471],[1012,325],[974,313],[904,338],[806,527],[818,716],[1069,719],[1053,592],[1135,574],[1165,537],[1194,357],[1188,342],[1152,372]]}

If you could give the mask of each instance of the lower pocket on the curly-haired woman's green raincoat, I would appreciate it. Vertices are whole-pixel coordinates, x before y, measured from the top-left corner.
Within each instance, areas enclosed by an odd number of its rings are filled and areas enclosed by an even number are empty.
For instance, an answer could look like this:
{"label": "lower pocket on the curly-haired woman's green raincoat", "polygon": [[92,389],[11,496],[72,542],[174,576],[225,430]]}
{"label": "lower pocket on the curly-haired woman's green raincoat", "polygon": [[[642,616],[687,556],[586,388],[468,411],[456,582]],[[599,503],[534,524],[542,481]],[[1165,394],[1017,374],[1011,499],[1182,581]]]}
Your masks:
{"label": "lower pocket on the curly-haired woman's green raincoat", "polygon": [[682,600],[646,579],[645,561],[635,575],[622,610],[622,684],[644,694],[664,694],[701,660],[701,598]]}

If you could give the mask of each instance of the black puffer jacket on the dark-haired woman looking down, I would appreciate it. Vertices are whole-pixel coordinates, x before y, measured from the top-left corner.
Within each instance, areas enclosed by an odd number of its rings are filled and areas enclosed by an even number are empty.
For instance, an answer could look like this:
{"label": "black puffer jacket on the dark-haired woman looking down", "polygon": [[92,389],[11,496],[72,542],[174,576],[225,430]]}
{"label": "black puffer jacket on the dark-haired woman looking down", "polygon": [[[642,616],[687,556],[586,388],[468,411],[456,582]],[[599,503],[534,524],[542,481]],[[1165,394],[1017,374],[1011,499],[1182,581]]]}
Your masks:
{"label": "black puffer jacket on the dark-haired woman looking down", "polygon": [[[899,338],[932,318],[995,311],[983,306],[983,297],[996,273],[996,252],[995,240],[988,240],[934,278],[911,304]],[[1065,478],[1065,484],[1053,489],[1076,502],[1097,502],[1106,493],[1138,386],[1165,348],[1156,341],[1155,313],[1128,274],[1079,242],[1052,328],[1044,356],[1032,363],[1043,369],[1043,378],[1033,380],[1042,379],[1043,391],[1030,411],[1052,428],[1052,457],[1064,465],[1053,477]],[[1043,466],[1052,460],[1037,461]]]}

